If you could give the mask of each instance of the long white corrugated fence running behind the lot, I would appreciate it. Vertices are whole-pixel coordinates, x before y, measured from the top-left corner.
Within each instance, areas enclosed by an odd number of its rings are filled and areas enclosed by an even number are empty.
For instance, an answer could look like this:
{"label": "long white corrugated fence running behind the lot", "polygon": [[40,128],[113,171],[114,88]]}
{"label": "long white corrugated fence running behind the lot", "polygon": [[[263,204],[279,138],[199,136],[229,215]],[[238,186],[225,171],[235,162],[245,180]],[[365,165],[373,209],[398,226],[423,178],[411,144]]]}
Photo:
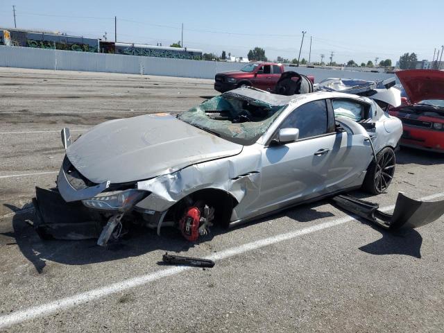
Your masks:
{"label": "long white corrugated fence running behind the lot", "polygon": [[[74,52],[33,49],[19,46],[0,46],[0,67],[60,69],[67,71],[102,71],[110,73],[179,76],[185,78],[214,78],[221,71],[232,71],[245,64],[171,58],[126,56],[121,54]],[[393,74],[361,71],[336,71],[322,68],[286,67],[289,71],[313,75],[316,82],[325,78],[385,79]]]}

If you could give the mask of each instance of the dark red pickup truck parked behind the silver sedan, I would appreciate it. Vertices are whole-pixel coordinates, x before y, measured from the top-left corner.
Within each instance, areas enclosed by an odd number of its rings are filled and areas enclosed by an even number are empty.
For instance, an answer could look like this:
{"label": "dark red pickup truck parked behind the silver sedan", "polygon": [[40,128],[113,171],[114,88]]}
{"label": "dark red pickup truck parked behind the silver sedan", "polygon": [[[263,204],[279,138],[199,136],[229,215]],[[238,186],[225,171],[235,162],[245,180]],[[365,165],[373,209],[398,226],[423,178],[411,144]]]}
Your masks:
{"label": "dark red pickup truck parked behind the silver sedan", "polygon": [[216,74],[214,89],[228,92],[242,85],[250,85],[262,90],[273,91],[284,73],[284,65],[275,62],[251,62],[239,71],[224,71]]}

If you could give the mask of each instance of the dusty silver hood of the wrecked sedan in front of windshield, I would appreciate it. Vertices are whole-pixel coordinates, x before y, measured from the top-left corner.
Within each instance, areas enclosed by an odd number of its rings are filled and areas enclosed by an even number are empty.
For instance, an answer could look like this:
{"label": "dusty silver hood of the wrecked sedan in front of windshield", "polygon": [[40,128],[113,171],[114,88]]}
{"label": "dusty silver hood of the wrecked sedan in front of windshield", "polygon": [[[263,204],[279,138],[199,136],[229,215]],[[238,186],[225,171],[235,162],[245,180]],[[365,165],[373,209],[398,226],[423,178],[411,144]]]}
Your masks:
{"label": "dusty silver hood of the wrecked sedan in front of windshield", "polygon": [[67,148],[71,164],[92,182],[133,182],[191,164],[237,155],[242,146],[171,114],[106,121]]}

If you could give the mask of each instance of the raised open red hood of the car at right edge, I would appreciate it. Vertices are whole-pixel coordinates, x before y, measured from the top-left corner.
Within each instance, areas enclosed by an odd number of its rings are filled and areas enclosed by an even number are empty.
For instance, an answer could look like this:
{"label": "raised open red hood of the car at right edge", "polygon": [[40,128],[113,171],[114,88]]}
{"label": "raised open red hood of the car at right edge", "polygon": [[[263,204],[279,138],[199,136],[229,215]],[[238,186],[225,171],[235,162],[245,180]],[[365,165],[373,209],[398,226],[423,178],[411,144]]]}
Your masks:
{"label": "raised open red hood of the car at right edge", "polygon": [[426,99],[444,99],[444,71],[431,69],[411,69],[397,71],[411,103]]}

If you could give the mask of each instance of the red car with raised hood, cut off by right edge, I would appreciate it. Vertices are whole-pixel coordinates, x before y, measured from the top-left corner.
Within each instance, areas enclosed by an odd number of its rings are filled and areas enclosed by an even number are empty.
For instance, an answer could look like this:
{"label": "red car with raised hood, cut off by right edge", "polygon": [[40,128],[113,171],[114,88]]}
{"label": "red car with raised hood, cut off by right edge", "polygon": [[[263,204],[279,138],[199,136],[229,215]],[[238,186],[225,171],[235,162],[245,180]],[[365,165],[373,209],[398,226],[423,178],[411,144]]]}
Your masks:
{"label": "red car with raised hood, cut off by right edge", "polygon": [[444,153],[444,71],[413,69],[396,75],[409,98],[388,112],[402,121],[402,146]]}

